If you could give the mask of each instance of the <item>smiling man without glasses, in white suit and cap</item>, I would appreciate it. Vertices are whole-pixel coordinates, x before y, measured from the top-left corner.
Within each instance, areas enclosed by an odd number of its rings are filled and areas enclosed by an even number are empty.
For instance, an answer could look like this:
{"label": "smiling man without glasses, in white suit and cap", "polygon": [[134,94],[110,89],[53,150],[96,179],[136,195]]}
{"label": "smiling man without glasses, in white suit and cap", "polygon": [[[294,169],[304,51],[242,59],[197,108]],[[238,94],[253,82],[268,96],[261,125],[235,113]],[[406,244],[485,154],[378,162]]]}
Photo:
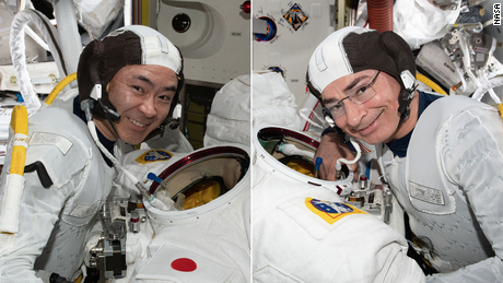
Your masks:
{"label": "smiling man without glasses, in white suit and cap", "polygon": [[[36,270],[75,279],[85,238],[116,176],[114,144],[138,144],[161,132],[183,80],[178,49],[150,27],[122,27],[85,47],[73,114],[49,107],[30,117],[19,219],[2,212],[1,221],[14,222],[15,231],[0,234],[1,282],[43,282]],[[86,122],[95,123],[97,134]]]}

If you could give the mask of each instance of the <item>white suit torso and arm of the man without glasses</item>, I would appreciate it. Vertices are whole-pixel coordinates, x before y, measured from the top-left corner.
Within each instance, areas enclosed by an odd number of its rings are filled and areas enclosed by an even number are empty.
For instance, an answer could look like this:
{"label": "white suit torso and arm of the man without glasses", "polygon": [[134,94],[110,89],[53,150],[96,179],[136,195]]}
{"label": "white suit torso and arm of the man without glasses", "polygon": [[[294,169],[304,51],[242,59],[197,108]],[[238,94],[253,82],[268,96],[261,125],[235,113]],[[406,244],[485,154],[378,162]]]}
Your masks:
{"label": "white suit torso and arm of the man without glasses", "polygon": [[[98,221],[114,169],[85,123],[67,110],[37,113],[30,118],[28,130],[25,164],[42,162],[52,185],[44,188],[37,172],[24,174],[19,233],[0,235],[0,282],[42,282],[33,264],[70,280],[83,262],[85,237]],[[7,173],[4,168],[2,190]]]}

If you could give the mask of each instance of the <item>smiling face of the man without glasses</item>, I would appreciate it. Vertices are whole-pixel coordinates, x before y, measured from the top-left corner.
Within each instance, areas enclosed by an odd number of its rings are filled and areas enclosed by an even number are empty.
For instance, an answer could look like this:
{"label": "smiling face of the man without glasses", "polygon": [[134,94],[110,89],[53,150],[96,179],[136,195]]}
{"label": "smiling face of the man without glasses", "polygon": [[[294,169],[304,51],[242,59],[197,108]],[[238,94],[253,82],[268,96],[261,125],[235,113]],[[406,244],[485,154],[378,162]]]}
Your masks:
{"label": "smiling face of the man without glasses", "polygon": [[177,75],[168,68],[154,64],[124,67],[107,86],[108,98],[120,115],[119,121],[114,122],[118,135],[108,121],[96,122],[96,127],[109,140],[141,143],[167,117],[177,85]]}

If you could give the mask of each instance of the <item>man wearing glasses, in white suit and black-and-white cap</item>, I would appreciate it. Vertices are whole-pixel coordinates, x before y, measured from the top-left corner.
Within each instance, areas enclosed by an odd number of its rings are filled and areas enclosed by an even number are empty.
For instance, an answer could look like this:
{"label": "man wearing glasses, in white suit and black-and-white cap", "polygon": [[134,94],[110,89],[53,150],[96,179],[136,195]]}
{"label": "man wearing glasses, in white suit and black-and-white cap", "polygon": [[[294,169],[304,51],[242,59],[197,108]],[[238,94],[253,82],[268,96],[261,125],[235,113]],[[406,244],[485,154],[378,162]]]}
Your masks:
{"label": "man wearing glasses, in white suit and black-and-white cap", "polygon": [[337,158],[353,158],[348,135],[375,144],[410,248],[433,268],[426,282],[503,282],[502,119],[469,97],[417,91],[414,74],[393,32],[344,27],[316,48],[307,84],[332,125],[319,176],[335,179]]}

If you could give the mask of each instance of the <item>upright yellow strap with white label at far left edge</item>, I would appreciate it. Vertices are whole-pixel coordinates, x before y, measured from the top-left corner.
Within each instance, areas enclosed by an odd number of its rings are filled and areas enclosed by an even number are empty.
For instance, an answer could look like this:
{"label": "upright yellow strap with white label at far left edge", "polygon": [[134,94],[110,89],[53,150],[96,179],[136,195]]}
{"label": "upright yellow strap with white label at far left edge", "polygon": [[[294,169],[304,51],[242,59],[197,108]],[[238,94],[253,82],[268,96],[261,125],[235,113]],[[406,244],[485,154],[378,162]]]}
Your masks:
{"label": "upright yellow strap with white label at far left edge", "polygon": [[25,106],[14,106],[11,115],[11,128],[14,130],[14,145],[12,146],[9,174],[23,176],[28,134],[28,113]]}

